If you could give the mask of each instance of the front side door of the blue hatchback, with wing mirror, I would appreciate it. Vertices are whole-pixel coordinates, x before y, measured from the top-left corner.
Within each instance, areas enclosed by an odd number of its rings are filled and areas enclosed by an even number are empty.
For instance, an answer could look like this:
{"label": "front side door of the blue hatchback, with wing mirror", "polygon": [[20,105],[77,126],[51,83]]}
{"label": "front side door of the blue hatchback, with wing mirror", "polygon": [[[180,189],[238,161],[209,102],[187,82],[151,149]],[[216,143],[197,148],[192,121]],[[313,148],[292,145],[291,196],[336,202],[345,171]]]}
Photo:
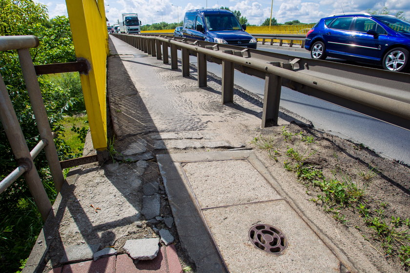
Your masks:
{"label": "front side door of the blue hatchback, with wing mirror", "polygon": [[366,17],[354,20],[350,53],[356,58],[379,61],[388,36],[381,25]]}

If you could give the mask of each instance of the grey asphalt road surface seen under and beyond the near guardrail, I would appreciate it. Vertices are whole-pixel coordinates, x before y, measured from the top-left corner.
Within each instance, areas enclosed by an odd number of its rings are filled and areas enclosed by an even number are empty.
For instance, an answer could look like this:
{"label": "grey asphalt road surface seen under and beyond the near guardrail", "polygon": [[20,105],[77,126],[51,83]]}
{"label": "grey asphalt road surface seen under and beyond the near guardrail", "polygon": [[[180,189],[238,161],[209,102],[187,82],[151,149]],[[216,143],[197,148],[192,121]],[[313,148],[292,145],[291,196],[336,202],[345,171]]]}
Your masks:
{"label": "grey asphalt road surface seen under and beyond the near guardrail", "polygon": [[[306,50],[272,49],[258,45],[258,49],[310,58]],[[337,59],[334,59],[337,60]],[[191,57],[196,64],[196,58]],[[208,63],[208,71],[222,77],[222,66]],[[235,71],[234,83],[264,96],[265,80]],[[280,106],[310,120],[314,127],[338,137],[363,143],[381,156],[410,165],[410,131],[367,117],[343,107],[282,87]]]}

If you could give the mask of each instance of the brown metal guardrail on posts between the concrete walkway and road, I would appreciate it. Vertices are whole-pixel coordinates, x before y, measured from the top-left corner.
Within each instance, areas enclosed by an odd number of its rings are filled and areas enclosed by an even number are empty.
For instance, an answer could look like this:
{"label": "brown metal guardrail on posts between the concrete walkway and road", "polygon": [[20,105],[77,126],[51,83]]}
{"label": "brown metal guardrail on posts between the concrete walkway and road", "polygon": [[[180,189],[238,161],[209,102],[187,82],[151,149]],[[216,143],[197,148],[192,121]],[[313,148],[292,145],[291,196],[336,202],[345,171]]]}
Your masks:
{"label": "brown metal guardrail on posts between the concrete walkway and road", "polygon": [[[276,125],[281,86],[410,130],[410,79],[405,73],[294,58],[284,54],[184,38],[114,35],[189,76],[189,55],[198,57],[198,85],[206,86],[206,60],[222,64],[222,103],[233,101],[234,69],[265,79],[262,127]],[[162,52],[161,52],[162,45]]]}

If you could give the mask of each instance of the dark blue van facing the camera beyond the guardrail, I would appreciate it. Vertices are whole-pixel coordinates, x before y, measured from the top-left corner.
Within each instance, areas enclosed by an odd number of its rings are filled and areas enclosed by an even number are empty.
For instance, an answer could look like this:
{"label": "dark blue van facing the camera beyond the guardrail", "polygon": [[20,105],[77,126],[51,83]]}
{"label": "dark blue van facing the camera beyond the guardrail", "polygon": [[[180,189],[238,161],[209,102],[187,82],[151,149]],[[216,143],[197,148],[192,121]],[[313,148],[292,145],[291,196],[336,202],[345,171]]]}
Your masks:
{"label": "dark blue van facing the camera beyond the guardrail", "polygon": [[257,41],[235,15],[225,9],[196,9],[185,13],[182,36],[185,38],[255,48]]}

